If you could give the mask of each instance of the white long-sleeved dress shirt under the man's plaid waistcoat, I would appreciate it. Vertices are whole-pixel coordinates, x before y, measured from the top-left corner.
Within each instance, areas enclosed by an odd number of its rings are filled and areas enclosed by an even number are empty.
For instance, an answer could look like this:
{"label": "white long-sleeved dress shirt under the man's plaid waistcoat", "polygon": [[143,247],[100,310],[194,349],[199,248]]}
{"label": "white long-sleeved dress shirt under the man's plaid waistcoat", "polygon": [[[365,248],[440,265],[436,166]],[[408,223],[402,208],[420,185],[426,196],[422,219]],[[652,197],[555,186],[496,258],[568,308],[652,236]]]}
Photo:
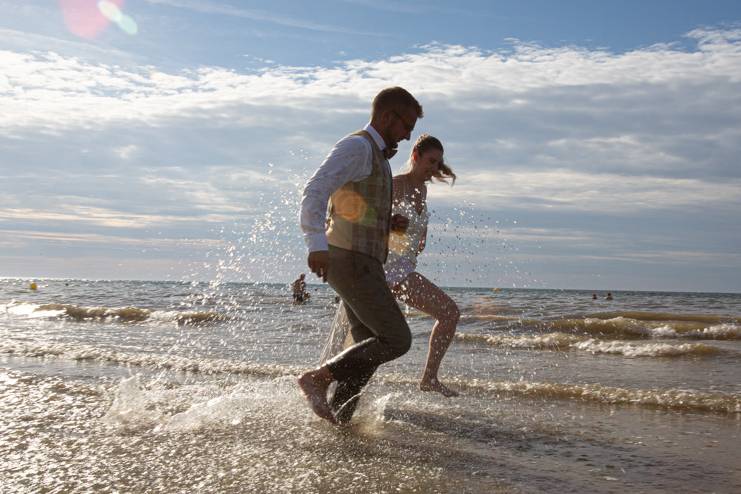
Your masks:
{"label": "white long-sleeved dress shirt under the man's plaid waistcoat", "polygon": [[[378,147],[386,148],[381,135],[367,124],[363,127]],[[327,203],[334,191],[348,182],[359,182],[373,171],[373,148],[363,136],[350,135],[334,145],[324,162],[306,182],[301,199],[301,230],[309,252],[327,250]]]}

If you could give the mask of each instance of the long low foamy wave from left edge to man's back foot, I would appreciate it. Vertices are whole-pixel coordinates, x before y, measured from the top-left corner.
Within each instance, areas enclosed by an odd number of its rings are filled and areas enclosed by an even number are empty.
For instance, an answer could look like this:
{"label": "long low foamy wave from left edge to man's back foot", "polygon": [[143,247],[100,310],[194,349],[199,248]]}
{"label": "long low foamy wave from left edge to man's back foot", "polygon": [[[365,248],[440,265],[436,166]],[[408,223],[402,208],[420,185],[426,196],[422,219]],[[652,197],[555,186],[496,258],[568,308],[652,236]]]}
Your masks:
{"label": "long low foamy wave from left edge to man's back foot", "polygon": [[[132,365],[154,370],[173,370],[200,374],[243,374],[278,377],[298,374],[301,368],[278,364],[257,364],[227,359],[201,359],[150,353],[126,353],[90,345],[2,341],[0,353],[21,357],[57,357],[75,361],[94,361]],[[305,369],[304,369],[305,370]]]}

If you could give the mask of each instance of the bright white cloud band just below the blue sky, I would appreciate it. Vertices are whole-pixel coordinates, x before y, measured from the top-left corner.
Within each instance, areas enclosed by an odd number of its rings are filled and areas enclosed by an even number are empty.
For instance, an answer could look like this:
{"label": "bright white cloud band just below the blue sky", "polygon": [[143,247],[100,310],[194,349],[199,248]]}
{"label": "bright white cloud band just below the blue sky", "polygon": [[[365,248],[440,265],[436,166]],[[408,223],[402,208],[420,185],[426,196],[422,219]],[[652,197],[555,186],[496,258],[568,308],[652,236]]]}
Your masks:
{"label": "bright white cloud band just below the blue sky", "polygon": [[[190,117],[197,110],[212,116],[226,110],[226,116],[229,108],[240,105],[309,110],[321,103],[325,111],[358,111],[367,108],[378,88],[394,83],[414,88],[423,102],[442,101],[447,108],[475,104],[479,112],[527,108],[532,103],[528,95],[537,96],[533,91],[545,88],[577,88],[581,95],[566,102],[553,99],[545,111],[556,105],[566,112],[598,108],[600,102],[615,103],[616,93],[623,98],[620,103],[631,98],[640,102],[685,87],[687,92],[676,95],[680,102],[697,95],[698,89],[699,96],[705,96],[705,86],[735,89],[741,82],[738,36],[735,31],[695,33],[699,44],[694,52],[657,46],[615,54],[523,43],[510,52],[484,52],[429,45],[419,53],[386,60],[352,60],[336,67],[276,66],[261,73],[201,67],[171,74],[153,67],[90,64],[53,53],[4,51],[0,68],[12,89],[2,100],[8,111],[0,125],[64,127],[90,119],[150,122]],[[681,103],[691,107],[697,101]],[[27,118],[18,118],[22,107]],[[73,107],[76,112],[69,111]]]}

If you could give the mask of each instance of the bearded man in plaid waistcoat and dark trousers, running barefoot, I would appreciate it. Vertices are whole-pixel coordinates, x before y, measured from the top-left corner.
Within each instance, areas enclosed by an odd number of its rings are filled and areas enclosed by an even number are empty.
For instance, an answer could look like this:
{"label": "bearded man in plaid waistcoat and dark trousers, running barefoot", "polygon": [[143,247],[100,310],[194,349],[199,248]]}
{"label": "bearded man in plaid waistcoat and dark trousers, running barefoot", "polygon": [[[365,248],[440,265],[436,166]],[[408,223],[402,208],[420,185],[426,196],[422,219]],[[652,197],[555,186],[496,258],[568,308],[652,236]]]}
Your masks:
{"label": "bearded man in plaid waistcoat and dark trousers, running barefoot", "polygon": [[[383,263],[390,229],[404,230],[408,224],[404,217],[391,218],[388,158],[402,139],[409,140],[422,115],[422,106],[408,91],[384,89],[373,99],[370,123],[335,144],[304,189],[301,228],[309,268],[342,298],[355,342],[298,380],[314,413],[332,423],[349,421],[378,366],[411,346]],[[333,381],[337,389],[328,403]]]}

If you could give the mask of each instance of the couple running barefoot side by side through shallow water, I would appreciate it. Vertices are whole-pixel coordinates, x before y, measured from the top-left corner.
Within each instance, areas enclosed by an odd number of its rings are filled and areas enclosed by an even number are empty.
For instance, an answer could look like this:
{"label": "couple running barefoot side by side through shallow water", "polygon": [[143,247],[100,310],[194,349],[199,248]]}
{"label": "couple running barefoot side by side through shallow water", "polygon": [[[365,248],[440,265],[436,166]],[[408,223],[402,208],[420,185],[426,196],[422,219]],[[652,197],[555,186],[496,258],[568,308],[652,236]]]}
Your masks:
{"label": "couple running barefoot side by side through shallow water", "polygon": [[342,303],[322,364],[298,384],[314,413],[332,423],[347,423],[378,366],[409,350],[411,332],[396,299],[436,320],[420,389],[457,395],[437,373],[458,307],[415,271],[429,219],[426,183],[456,176],[442,143],[427,134],[415,142],[406,173],[392,178],[388,163],[422,116],[408,91],[384,89],[373,99],[370,123],[337,142],[304,189],[300,219],[309,268]]}

